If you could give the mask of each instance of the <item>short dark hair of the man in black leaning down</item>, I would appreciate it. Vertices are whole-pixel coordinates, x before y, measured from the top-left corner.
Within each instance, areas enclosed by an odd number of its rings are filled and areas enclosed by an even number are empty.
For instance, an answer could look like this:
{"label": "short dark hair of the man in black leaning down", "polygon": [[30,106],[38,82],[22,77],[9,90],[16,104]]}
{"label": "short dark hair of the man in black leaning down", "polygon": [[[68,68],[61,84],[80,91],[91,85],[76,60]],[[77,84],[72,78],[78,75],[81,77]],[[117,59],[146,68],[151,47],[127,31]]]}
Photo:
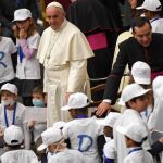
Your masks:
{"label": "short dark hair of the man in black leaning down", "polygon": [[131,22],[133,32],[135,32],[135,27],[142,27],[146,23],[149,24],[150,28],[152,28],[147,17],[135,17],[134,21]]}

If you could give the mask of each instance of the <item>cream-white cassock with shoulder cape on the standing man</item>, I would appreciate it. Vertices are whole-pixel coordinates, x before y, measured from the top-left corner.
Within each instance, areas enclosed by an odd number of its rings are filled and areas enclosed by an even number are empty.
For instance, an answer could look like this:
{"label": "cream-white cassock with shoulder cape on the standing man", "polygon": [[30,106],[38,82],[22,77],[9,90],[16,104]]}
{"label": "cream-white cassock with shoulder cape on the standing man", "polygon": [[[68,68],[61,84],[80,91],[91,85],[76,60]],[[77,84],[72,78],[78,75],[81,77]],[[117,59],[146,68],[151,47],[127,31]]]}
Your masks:
{"label": "cream-white cassock with shoulder cape on the standing man", "polygon": [[57,121],[68,121],[67,115],[61,113],[61,106],[66,104],[66,92],[82,91],[90,95],[87,59],[91,57],[93,53],[86,37],[68,21],[64,20],[58,30],[48,27],[43,32],[37,58],[45,66],[48,126]]}

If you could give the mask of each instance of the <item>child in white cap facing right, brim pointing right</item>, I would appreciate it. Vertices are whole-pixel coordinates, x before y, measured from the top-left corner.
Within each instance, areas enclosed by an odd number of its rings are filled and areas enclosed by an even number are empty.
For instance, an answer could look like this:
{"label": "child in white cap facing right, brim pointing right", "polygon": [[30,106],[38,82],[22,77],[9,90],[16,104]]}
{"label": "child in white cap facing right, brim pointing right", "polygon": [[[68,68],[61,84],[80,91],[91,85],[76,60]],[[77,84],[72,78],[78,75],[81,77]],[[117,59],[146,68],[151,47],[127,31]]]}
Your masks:
{"label": "child in white cap facing right, brim pointing right", "polygon": [[[117,151],[117,162],[123,163],[124,158],[127,155],[127,149],[124,141],[124,136],[116,131],[117,126],[127,126],[130,123],[139,123],[140,125],[147,127],[143,120],[140,116],[140,112],[145,111],[148,106],[147,93],[150,89],[143,89],[138,84],[130,84],[126,86],[122,92],[122,100],[126,104],[126,110],[115,123],[113,127],[113,137],[115,141],[115,148]],[[145,150],[150,150],[150,141],[147,139],[142,147]]]}

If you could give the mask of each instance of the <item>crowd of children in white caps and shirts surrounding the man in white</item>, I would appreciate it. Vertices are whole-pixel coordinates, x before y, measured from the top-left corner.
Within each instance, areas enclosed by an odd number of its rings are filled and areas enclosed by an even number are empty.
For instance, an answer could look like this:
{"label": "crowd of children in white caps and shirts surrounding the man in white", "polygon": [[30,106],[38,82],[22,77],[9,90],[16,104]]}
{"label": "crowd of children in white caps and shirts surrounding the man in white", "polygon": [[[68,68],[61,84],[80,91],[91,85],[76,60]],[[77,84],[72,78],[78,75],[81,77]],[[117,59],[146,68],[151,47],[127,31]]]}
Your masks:
{"label": "crowd of children in white caps and shirts surrounding the man in white", "polygon": [[124,112],[89,116],[92,101],[75,92],[61,108],[72,121],[47,128],[47,96],[36,59],[40,35],[27,9],[16,10],[13,22],[16,46],[0,36],[1,163],[163,163],[163,76],[151,83],[150,66],[138,61],[121,95]]}

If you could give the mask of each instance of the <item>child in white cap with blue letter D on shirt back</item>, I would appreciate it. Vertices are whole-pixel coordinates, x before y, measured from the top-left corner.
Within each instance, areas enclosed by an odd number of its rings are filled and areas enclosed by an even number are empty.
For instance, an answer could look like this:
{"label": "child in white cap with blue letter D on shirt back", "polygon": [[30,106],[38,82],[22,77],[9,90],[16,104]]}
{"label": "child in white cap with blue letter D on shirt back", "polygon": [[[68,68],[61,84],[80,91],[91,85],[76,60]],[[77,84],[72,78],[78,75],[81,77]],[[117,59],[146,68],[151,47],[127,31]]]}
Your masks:
{"label": "child in white cap with blue letter D on shirt back", "polygon": [[90,100],[82,92],[70,96],[67,105],[61,110],[68,110],[74,120],[64,125],[62,133],[65,139],[70,139],[71,148],[84,154],[85,162],[99,163],[98,138],[102,128],[95,117],[88,117],[89,104]]}

